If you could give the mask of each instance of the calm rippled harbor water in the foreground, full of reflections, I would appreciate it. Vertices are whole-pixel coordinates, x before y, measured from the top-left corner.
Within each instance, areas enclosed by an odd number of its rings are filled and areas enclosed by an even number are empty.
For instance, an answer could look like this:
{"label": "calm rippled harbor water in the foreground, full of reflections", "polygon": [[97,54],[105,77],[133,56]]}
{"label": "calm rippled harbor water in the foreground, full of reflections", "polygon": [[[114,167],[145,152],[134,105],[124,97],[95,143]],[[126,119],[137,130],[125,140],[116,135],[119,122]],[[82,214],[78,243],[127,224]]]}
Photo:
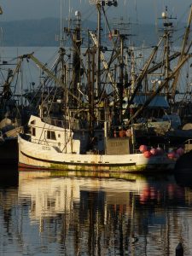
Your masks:
{"label": "calm rippled harbor water in the foreground, full of reflections", "polygon": [[192,187],[184,180],[10,175],[14,169],[9,176],[3,168],[0,255],[171,256],[179,241],[192,255]]}

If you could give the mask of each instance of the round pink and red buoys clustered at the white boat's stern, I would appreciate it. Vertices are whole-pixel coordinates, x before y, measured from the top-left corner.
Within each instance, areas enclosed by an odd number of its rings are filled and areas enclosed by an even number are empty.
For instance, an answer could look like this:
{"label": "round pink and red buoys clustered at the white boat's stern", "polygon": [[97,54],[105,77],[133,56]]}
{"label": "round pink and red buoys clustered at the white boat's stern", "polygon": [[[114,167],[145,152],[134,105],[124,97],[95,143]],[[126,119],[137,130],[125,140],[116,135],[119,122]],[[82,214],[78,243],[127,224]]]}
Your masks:
{"label": "round pink and red buoys clustered at the white boat's stern", "polygon": [[[162,155],[164,154],[164,150],[160,147],[157,148],[148,148],[146,145],[141,145],[139,147],[139,151],[143,153],[144,157],[150,158],[155,155]],[[169,159],[177,159],[182,154],[184,154],[183,148],[177,148],[177,149],[170,149],[169,152],[166,154]]]}

